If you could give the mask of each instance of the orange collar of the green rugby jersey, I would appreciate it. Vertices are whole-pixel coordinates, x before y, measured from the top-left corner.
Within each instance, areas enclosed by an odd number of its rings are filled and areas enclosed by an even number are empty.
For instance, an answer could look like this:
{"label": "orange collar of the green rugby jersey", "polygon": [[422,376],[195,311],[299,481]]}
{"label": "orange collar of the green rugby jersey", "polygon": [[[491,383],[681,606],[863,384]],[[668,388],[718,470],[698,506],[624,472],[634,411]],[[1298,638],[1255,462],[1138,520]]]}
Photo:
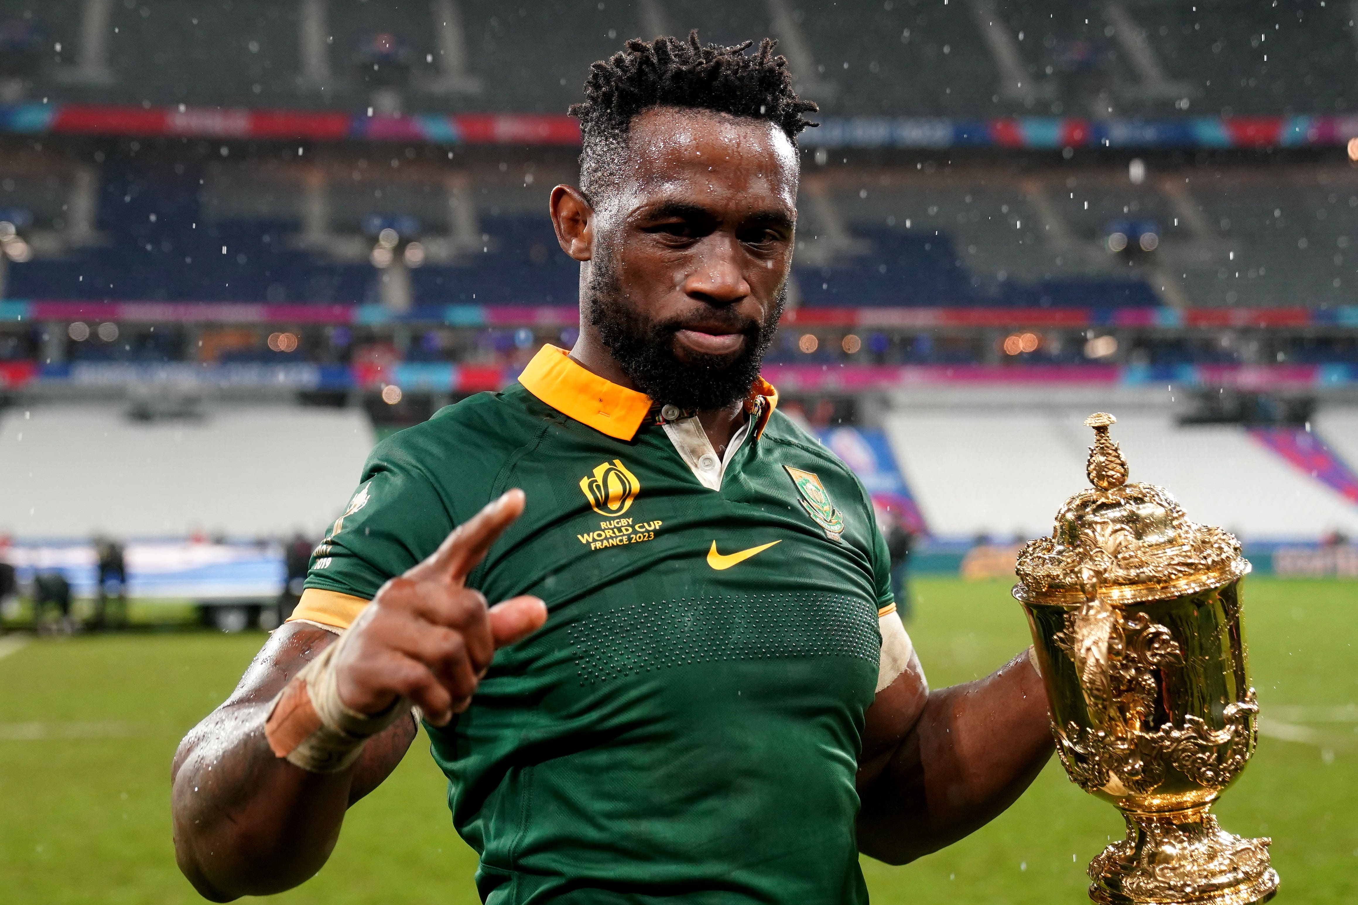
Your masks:
{"label": "orange collar of the green rugby jersey", "polygon": [[[568,418],[615,440],[631,440],[650,412],[650,396],[604,380],[576,362],[565,349],[545,345],[519,374],[534,396]],[[746,411],[756,418],[755,436],[763,433],[778,404],[778,391],[763,377],[755,380]]]}

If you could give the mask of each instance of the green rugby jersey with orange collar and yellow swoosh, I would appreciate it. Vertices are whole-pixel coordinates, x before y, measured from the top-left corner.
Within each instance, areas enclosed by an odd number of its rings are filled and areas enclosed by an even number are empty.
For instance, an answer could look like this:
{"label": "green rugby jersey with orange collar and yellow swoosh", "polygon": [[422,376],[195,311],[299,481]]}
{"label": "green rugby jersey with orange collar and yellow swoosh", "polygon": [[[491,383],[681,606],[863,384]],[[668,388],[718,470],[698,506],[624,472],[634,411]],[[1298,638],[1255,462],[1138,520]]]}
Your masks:
{"label": "green rugby jersey with orange collar and yellow swoosh", "polygon": [[379,444],[316,548],[293,619],[344,628],[527,494],[469,585],[547,623],[426,725],[486,902],[866,902],[854,773],[899,617],[862,486],[775,400],[759,381],[718,463],[695,418],[546,347]]}

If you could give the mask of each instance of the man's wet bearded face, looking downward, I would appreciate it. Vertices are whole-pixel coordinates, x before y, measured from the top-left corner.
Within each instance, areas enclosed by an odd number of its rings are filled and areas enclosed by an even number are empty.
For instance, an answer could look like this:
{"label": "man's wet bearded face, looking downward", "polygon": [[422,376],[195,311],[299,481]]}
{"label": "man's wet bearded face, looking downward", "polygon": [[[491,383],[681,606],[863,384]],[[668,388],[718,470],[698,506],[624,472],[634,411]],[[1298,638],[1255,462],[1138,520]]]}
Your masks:
{"label": "man's wet bearded face, looking downward", "polygon": [[743,399],[782,311],[796,149],[770,122],[661,107],[633,122],[619,164],[587,213],[587,247],[562,242],[588,262],[584,338],[652,399]]}

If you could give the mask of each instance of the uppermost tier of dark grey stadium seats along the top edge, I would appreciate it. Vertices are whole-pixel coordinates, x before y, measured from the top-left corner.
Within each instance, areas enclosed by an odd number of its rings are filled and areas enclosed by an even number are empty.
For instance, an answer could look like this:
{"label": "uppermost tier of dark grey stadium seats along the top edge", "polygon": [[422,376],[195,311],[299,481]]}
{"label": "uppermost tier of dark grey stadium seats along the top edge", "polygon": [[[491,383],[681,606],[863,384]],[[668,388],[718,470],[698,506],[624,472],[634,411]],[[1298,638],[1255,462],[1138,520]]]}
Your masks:
{"label": "uppermost tier of dark grey stadium seats along the top edge", "polygon": [[[652,37],[648,30],[657,27],[680,35],[697,27],[721,42],[781,35],[794,62],[813,68],[797,73],[808,96],[837,115],[1172,115],[1186,109],[1247,115],[1342,113],[1358,102],[1344,3],[653,0],[600,7],[593,0],[459,0],[466,65],[479,91],[440,88],[437,4],[322,4],[323,84],[303,76],[301,4],[111,5],[109,76],[94,79],[75,65],[79,0],[5,4],[8,16],[35,22],[53,46],[62,46],[45,54],[30,96],[361,110],[376,80],[360,68],[360,49],[384,33],[410,58],[409,110],[564,113],[579,98],[589,62],[623,39]],[[789,20],[796,34],[788,34]],[[1142,34],[1152,45],[1149,62],[1135,52]],[[997,42],[1009,47],[1008,60]],[[1016,87],[1020,80],[1027,84]]]}

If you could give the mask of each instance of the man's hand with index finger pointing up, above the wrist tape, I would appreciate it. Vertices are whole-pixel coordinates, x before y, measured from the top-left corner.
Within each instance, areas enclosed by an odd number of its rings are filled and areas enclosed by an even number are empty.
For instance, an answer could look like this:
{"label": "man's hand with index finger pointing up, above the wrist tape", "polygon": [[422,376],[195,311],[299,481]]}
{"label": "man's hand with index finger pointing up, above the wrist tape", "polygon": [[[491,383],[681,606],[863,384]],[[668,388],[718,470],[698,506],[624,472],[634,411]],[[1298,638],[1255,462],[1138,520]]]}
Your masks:
{"label": "man's hand with index finger pointing up, above the wrist tape", "polygon": [[547,620],[538,597],[486,606],[467,575],[490,544],[523,513],[511,490],[460,525],[428,559],[383,585],[349,628],[335,658],[340,699],[361,714],[409,697],[425,719],[443,726],[471,703],[496,650]]}

